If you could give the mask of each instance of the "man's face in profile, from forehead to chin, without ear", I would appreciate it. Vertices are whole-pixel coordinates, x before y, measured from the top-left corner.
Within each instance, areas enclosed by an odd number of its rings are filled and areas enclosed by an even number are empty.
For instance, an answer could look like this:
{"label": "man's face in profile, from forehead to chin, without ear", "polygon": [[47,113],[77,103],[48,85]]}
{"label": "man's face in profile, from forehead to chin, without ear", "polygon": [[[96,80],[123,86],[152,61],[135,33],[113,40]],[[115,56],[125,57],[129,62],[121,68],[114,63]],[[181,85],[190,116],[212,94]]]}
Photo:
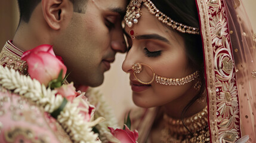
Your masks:
{"label": "man's face in profile, from forehead to chin, without ear", "polygon": [[56,52],[71,72],[69,81],[89,86],[103,83],[116,52],[126,51],[121,26],[126,6],[126,0],[88,0],[82,13],[73,13],[56,42],[61,47]]}

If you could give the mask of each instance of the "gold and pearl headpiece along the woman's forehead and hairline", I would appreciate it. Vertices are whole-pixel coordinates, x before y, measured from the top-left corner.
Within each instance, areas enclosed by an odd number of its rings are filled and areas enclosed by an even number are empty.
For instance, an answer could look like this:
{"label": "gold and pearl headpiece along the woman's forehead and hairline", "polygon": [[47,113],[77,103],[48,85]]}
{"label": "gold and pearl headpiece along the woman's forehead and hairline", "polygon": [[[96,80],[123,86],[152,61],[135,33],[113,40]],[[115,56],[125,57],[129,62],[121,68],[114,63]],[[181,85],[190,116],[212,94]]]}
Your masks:
{"label": "gold and pearl headpiece along the woman's forehead and hairline", "polygon": [[189,33],[189,34],[195,34],[199,35],[199,28],[192,27],[192,26],[186,26],[184,24],[178,23],[174,20],[172,20],[170,17],[162,13],[161,11],[156,8],[156,6],[153,4],[150,0],[132,0],[129,5],[127,6],[127,14],[124,17],[125,23],[128,27],[132,27],[134,24],[138,23],[138,18],[141,17],[141,4],[144,4],[145,7],[149,10],[149,12],[158,18],[159,21],[161,21],[164,24],[167,24],[169,27],[172,27],[172,29],[176,29],[179,32],[182,33]]}

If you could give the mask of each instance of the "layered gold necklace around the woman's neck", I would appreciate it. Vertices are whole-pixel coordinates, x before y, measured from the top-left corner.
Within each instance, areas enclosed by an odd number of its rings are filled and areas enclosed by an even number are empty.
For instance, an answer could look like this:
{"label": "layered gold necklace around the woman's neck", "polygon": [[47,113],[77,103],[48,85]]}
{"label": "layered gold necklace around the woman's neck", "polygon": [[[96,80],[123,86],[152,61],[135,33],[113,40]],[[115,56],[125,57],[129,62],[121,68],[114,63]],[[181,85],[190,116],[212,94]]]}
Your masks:
{"label": "layered gold necklace around the woman's neck", "polygon": [[209,142],[207,106],[191,117],[183,119],[186,129],[180,119],[172,119],[164,114],[165,128],[161,131],[161,142]]}

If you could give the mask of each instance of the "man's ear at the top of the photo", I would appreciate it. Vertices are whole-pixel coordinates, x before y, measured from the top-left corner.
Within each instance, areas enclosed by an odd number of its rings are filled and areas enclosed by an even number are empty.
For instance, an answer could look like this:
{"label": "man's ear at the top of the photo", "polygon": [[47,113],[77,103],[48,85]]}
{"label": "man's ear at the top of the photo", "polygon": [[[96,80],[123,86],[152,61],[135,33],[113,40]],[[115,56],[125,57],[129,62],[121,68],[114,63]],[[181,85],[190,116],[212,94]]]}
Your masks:
{"label": "man's ear at the top of the photo", "polygon": [[71,20],[73,4],[69,0],[42,0],[42,11],[51,29],[60,30]]}

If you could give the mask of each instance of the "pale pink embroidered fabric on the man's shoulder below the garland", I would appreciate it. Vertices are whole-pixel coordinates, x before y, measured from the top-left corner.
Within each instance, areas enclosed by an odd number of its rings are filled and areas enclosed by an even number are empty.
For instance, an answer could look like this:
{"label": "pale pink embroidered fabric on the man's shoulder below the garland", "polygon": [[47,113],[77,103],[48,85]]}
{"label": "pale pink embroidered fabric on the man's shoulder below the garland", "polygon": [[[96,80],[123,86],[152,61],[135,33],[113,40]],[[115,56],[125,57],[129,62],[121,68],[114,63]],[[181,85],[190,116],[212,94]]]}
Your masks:
{"label": "pale pink embroidered fabric on the man's shoulder below the garland", "polygon": [[55,119],[20,96],[0,92],[0,102],[0,142],[61,142],[57,135],[65,138]]}

